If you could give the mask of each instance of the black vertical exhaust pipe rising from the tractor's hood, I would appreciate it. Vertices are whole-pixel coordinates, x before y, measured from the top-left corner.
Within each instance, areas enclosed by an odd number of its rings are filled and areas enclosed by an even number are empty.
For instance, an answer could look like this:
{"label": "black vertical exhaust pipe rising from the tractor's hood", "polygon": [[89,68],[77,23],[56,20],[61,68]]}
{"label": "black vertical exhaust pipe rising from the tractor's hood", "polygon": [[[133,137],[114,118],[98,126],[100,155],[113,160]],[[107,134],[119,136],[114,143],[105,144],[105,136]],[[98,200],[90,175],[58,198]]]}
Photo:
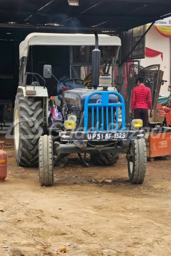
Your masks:
{"label": "black vertical exhaust pipe rising from the tractor's hood", "polygon": [[92,75],[91,75],[91,86],[97,90],[99,85],[100,66],[101,66],[101,51],[98,48],[98,33],[94,32],[95,35],[95,49],[92,51]]}

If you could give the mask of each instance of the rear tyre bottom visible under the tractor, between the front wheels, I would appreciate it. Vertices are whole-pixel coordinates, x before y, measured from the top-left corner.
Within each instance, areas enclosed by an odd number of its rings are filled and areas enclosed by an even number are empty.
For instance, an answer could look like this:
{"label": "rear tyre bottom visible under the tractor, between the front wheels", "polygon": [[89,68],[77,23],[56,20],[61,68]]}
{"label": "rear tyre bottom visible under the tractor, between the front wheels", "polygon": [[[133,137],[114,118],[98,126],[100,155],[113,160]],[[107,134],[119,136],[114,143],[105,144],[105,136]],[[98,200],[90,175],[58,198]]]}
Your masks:
{"label": "rear tyre bottom visible under the tractor, between the front wheels", "polygon": [[111,166],[117,163],[119,160],[119,153],[100,153],[100,154],[90,154],[91,161],[97,165],[101,166]]}

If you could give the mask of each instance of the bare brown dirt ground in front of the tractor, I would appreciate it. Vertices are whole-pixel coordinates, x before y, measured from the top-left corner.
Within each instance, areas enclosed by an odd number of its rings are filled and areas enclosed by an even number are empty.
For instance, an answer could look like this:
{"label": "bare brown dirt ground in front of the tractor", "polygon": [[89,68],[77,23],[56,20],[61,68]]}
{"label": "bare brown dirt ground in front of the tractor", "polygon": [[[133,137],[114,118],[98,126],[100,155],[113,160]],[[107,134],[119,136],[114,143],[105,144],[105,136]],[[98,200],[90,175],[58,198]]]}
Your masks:
{"label": "bare brown dirt ground in front of the tractor", "polygon": [[9,142],[0,183],[1,256],[9,255],[5,247],[57,255],[64,245],[68,256],[171,255],[170,160],[148,162],[142,185],[129,183],[122,155],[111,167],[55,167],[54,186],[40,187],[38,168],[16,166]]}

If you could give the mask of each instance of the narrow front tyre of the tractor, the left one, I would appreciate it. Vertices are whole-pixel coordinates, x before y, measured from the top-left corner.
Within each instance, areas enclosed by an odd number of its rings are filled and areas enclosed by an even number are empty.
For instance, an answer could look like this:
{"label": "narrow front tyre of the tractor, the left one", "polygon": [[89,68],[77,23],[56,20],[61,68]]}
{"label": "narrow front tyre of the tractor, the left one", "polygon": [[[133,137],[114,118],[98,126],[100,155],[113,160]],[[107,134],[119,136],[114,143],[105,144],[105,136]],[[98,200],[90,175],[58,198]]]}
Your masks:
{"label": "narrow front tyre of the tractor, the left one", "polygon": [[53,142],[48,135],[39,139],[39,181],[41,186],[53,185]]}

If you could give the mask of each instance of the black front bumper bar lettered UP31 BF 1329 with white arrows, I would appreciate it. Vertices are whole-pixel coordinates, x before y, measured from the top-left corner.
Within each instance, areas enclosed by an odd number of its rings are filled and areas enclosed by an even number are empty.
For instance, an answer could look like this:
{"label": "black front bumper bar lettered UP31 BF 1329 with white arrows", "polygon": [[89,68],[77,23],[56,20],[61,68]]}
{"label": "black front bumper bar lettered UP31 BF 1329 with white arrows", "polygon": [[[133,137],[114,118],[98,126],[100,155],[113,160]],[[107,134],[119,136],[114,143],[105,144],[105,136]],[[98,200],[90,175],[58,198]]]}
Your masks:
{"label": "black front bumper bar lettered UP31 BF 1329 with white arrows", "polygon": [[119,132],[67,132],[61,131],[60,138],[61,141],[114,141],[122,139],[139,139],[144,137],[144,132],[139,131],[119,131]]}

